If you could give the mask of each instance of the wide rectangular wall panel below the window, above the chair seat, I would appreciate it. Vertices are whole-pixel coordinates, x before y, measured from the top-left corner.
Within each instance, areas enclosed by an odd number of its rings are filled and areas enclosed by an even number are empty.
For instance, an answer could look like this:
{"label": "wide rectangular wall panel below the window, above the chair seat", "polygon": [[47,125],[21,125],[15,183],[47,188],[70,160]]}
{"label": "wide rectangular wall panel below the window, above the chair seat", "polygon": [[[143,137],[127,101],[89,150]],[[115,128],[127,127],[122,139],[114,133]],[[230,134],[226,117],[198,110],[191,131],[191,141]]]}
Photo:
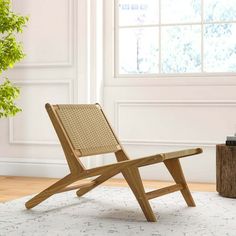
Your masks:
{"label": "wide rectangular wall panel below the window, above the chair seat", "polygon": [[124,142],[214,145],[233,132],[235,108],[236,101],[117,102],[116,129]]}

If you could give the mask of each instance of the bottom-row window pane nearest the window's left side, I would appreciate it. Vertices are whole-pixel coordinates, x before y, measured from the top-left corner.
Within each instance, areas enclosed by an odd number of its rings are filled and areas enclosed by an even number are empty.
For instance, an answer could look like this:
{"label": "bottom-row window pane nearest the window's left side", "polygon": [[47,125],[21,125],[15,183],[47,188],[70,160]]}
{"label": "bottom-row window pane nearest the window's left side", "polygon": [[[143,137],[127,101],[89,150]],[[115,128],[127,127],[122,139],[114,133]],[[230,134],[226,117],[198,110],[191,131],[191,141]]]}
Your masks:
{"label": "bottom-row window pane nearest the window's left side", "polygon": [[158,28],[119,30],[119,73],[158,73]]}

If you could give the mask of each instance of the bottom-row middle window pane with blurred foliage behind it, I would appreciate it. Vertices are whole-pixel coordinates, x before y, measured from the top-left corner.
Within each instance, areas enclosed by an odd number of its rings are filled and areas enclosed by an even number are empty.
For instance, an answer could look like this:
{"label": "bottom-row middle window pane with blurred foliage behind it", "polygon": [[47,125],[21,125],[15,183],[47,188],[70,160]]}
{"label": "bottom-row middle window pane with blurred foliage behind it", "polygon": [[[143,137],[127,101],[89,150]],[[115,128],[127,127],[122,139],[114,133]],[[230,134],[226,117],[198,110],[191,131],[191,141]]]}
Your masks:
{"label": "bottom-row middle window pane with blurred foliage behind it", "polygon": [[163,73],[201,72],[200,26],[163,27],[161,45]]}

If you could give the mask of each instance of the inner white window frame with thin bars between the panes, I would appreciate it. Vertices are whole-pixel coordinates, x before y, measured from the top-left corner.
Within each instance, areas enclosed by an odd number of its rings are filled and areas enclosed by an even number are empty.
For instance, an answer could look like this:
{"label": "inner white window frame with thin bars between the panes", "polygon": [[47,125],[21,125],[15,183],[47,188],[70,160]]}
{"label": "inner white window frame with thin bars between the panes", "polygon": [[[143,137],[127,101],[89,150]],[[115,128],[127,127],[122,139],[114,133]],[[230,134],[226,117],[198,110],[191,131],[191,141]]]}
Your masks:
{"label": "inner white window frame with thin bars between the panes", "polygon": [[[203,1],[203,0],[201,0]],[[105,0],[105,5],[109,5],[107,4],[108,1]],[[159,1],[159,4],[161,3],[161,1]],[[112,49],[113,50],[113,78],[116,78],[117,80],[128,80],[128,79],[138,79],[138,80],[142,80],[142,79],[149,79],[149,80],[153,80],[153,79],[166,79],[166,78],[172,78],[172,79],[191,79],[191,78],[206,78],[206,77],[210,77],[210,78],[223,78],[223,77],[227,77],[227,81],[223,81],[223,83],[225,82],[228,82],[229,78],[234,78],[236,77],[236,73],[235,72],[204,72],[203,71],[203,63],[204,63],[204,58],[203,58],[203,33],[201,33],[201,72],[196,72],[196,73],[158,73],[158,74],[119,74],[118,73],[118,68],[119,68],[119,65],[118,65],[118,61],[119,61],[119,49],[118,49],[118,45],[119,43],[118,42],[118,39],[119,39],[119,29],[120,28],[128,28],[128,27],[119,27],[118,26],[118,22],[119,22],[119,19],[118,19],[118,0],[110,0],[110,7],[112,6],[112,9],[110,12],[113,12],[113,14],[110,14],[110,19],[109,19],[109,22],[112,24],[110,25],[110,27],[113,29],[112,32],[111,32],[111,35],[113,37],[113,45],[112,45]],[[105,6],[106,8],[106,6]],[[107,14],[106,14],[107,15]],[[204,23],[203,22],[203,4],[202,4],[202,13],[201,13],[201,23],[178,23],[178,24],[161,24],[160,23],[160,19],[159,19],[159,24],[155,24],[155,26],[157,27],[161,27],[161,26],[180,26],[180,25],[200,25],[201,26],[201,31],[203,32],[203,26],[206,25],[206,24],[219,24],[219,23],[236,23],[235,21],[220,21],[220,22],[214,22],[214,23]],[[108,22],[108,20],[105,21],[105,24],[106,22]],[[154,25],[152,25],[154,26]],[[135,27],[135,26],[134,26]],[[139,26],[140,27],[140,26]],[[148,27],[148,26],[141,26],[142,28],[144,27]],[[105,28],[107,28],[105,26]],[[132,26],[133,28],[133,26]],[[160,28],[159,28],[160,30]],[[159,33],[159,39],[161,37],[161,33]],[[161,55],[161,47],[160,47],[160,43],[161,41],[159,40],[159,50],[160,50],[160,53],[159,53],[159,60],[160,60],[160,55]],[[106,45],[104,44],[104,46],[106,47]],[[106,63],[106,62],[105,62]],[[161,63],[159,63],[159,69],[161,67]],[[201,80],[200,80],[201,81]],[[232,81],[233,82],[233,81]],[[222,83],[222,81],[221,81]]]}

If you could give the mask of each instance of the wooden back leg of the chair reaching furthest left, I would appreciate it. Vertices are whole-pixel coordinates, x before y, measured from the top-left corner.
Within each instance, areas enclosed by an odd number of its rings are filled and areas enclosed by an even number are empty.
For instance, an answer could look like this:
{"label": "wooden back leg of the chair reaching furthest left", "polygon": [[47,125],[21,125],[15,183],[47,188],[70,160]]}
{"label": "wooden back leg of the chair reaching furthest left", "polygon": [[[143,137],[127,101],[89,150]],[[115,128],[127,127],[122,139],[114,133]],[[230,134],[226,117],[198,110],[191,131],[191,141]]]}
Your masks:
{"label": "wooden back leg of the chair reaching furthest left", "polygon": [[40,192],[39,194],[34,196],[32,199],[27,201],[25,203],[26,208],[30,209],[30,208],[33,208],[33,207],[37,206],[39,203],[41,203],[44,200],[46,200],[47,198],[51,197],[52,195],[57,193],[59,190],[61,190],[61,189],[65,188],[66,186],[72,184],[76,180],[77,180],[77,178],[72,177],[71,175],[65,176],[64,178],[57,181],[55,184],[51,185],[50,187],[43,190],[42,192]]}

